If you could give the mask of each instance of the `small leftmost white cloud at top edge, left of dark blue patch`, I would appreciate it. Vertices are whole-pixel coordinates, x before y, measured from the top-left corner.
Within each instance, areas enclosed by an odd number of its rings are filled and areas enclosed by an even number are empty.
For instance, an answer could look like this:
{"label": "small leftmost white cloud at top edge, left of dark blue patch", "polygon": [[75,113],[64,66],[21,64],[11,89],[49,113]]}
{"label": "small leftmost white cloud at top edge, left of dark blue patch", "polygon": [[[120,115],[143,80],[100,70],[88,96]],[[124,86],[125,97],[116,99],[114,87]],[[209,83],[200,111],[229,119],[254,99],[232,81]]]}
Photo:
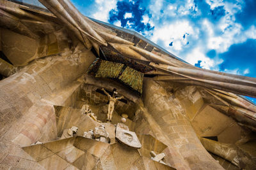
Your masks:
{"label": "small leftmost white cloud at top edge, left of dark blue patch", "polygon": [[97,11],[93,13],[92,17],[101,20],[103,22],[108,22],[109,11],[116,8],[117,0],[96,0]]}

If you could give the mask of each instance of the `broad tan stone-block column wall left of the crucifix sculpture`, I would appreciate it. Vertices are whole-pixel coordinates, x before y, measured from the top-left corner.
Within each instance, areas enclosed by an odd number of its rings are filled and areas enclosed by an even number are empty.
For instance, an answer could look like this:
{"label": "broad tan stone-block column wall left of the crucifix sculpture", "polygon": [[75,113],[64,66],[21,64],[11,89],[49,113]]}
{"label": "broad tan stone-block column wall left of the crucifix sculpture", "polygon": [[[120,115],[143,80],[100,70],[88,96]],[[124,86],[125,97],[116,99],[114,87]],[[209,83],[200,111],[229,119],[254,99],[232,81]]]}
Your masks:
{"label": "broad tan stone-block column wall left of the crucifix sculpture", "polygon": [[53,105],[70,104],[77,81],[95,59],[90,51],[31,62],[0,84],[0,167],[38,167],[20,146],[56,139]]}

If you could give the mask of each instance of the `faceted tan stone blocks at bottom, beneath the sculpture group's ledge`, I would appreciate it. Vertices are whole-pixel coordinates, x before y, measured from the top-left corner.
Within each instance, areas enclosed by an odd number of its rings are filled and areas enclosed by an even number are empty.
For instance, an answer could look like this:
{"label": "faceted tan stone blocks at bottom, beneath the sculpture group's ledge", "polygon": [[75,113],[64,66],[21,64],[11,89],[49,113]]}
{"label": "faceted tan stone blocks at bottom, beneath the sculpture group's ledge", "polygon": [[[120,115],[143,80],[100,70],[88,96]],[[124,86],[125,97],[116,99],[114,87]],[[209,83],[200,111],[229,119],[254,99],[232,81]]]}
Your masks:
{"label": "faceted tan stone blocks at bottom, beneath the sculpture group's ledge", "polygon": [[[99,166],[106,169],[123,169],[140,158],[140,153],[135,148],[78,136],[23,149],[45,169],[93,169]],[[41,153],[40,157],[38,152]]]}

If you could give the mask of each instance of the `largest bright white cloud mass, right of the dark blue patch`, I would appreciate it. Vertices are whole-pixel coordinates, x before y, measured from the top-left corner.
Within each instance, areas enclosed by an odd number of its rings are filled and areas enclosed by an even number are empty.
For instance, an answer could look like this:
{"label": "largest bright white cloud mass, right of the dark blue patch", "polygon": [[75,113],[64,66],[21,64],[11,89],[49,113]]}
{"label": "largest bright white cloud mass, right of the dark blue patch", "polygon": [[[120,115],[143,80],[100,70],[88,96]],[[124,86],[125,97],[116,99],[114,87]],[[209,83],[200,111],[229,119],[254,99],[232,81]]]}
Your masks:
{"label": "largest bright white cloud mass, right of the dark blue patch", "polygon": [[[227,52],[231,45],[243,43],[248,38],[256,39],[256,27],[252,26],[244,30],[243,26],[236,22],[235,14],[241,12],[243,1],[206,1],[211,6],[211,10],[218,6],[223,6],[225,10],[224,16],[216,20],[215,23],[212,23],[207,18],[202,18],[202,20],[195,22],[195,24],[188,19],[180,20],[180,17],[184,18],[191,14],[201,14],[194,1],[187,0],[184,4],[168,4],[166,7],[163,6],[162,0],[152,2],[150,12],[152,12],[153,17],[150,20],[156,24],[154,34],[150,39],[155,43],[160,43],[159,45],[163,48],[190,64],[195,65],[198,63],[198,60],[202,60],[200,66],[203,68],[220,71],[218,66],[223,62],[223,59],[218,58],[218,53]],[[163,12],[160,12],[161,10]],[[191,11],[194,13],[191,13]],[[166,19],[168,17],[172,18],[172,22],[168,22]],[[143,17],[143,20],[148,22],[147,16]],[[165,23],[159,23],[159,20],[163,20]],[[182,36],[186,33],[189,36],[183,39]],[[188,41],[189,45],[187,45]],[[173,42],[173,46],[169,46],[171,42]],[[207,57],[206,53],[209,50],[216,50],[217,56],[213,59]],[[250,73],[249,69],[226,69],[224,71],[241,75]]]}

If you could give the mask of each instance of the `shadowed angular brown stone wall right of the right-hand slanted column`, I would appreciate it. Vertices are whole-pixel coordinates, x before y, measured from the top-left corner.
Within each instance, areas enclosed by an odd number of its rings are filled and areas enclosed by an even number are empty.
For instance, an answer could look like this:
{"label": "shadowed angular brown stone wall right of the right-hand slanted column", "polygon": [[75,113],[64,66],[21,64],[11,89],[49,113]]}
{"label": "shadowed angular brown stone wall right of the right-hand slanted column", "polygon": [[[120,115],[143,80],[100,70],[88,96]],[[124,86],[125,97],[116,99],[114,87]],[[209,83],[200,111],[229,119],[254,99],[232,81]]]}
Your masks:
{"label": "shadowed angular brown stone wall right of the right-hand slanted column", "polygon": [[195,86],[182,87],[175,91],[175,97],[179,99],[196,134],[200,137],[216,137],[221,143],[248,140],[252,132],[238,125],[232,117],[213,108],[212,104],[220,104],[221,101],[214,100],[214,97],[205,93],[207,92],[204,89]]}

